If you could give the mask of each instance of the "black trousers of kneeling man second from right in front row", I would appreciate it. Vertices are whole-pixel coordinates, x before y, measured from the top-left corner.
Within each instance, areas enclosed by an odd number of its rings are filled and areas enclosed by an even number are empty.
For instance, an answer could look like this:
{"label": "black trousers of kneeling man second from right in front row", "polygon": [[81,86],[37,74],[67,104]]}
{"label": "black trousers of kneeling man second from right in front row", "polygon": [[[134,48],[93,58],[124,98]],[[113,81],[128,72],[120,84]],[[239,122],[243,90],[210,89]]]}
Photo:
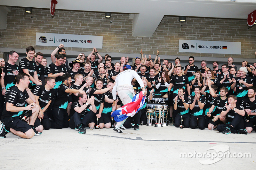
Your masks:
{"label": "black trousers of kneeling man second from right in front row", "polygon": [[[230,126],[233,126],[234,128],[230,128]],[[217,126],[217,130],[219,132],[223,132],[227,128],[230,128],[231,133],[236,133],[236,130],[244,129],[244,121],[241,115],[238,113],[235,114],[235,117],[231,123],[228,124],[221,124]]]}

